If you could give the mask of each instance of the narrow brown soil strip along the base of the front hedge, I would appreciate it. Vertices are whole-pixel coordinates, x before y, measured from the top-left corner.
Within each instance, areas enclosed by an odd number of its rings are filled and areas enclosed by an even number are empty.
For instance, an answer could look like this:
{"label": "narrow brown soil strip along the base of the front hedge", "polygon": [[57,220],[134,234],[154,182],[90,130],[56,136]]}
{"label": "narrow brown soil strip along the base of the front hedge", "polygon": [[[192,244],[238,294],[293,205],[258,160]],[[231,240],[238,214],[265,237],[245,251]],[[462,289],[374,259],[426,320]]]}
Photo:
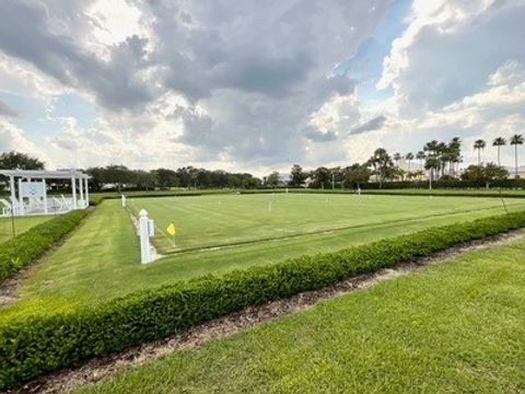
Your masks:
{"label": "narrow brown soil strip along the base of the front hedge", "polygon": [[97,382],[125,367],[137,367],[145,361],[156,359],[177,349],[192,348],[202,345],[210,339],[224,337],[242,329],[253,327],[265,321],[281,317],[312,306],[319,300],[362,289],[372,286],[377,281],[411,273],[428,264],[443,263],[444,260],[465,252],[494,246],[523,236],[525,236],[525,229],[495,235],[481,241],[459,244],[444,252],[435,253],[430,257],[418,258],[399,264],[395,268],[381,269],[376,273],[361,275],[319,290],[306,291],[279,301],[246,308],[223,317],[199,324],[168,338],[148,343],[121,354],[94,358],[78,369],[66,369],[37,378],[22,387],[7,391],[7,393],[69,392],[81,385]]}

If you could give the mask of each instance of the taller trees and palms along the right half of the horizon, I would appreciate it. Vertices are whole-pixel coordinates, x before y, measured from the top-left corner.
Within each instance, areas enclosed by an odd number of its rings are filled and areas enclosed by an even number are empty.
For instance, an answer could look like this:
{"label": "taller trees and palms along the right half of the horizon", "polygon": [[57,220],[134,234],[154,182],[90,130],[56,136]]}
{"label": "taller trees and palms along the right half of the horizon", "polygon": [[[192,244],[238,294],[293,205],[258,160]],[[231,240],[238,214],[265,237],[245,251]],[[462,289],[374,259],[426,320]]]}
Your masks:
{"label": "taller trees and palms along the right half of the horizon", "polygon": [[[514,135],[510,139],[514,147],[515,169],[514,177],[518,177],[518,150],[517,147],[524,143],[522,135]],[[307,186],[312,188],[336,188],[336,187],[361,187],[371,179],[383,187],[384,182],[395,181],[419,181],[425,176],[430,184],[432,182],[462,179],[469,184],[485,184],[487,187],[498,181],[506,179],[509,171],[501,166],[501,147],[506,144],[504,137],[498,137],[492,146],[498,151],[498,164],[481,161],[481,151],[486,148],[485,140],[476,140],[474,149],[478,153],[478,164],[469,165],[459,174],[459,164],[463,163],[462,141],[454,137],[448,142],[432,140],[427,142],[416,154],[408,152],[401,155],[399,152],[389,154],[386,149],[377,148],[368,161],[355,163],[346,167],[325,167],[315,170],[303,170],[294,164],[290,170],[290,181],[284,183],[279,173],[273,172],[264,177],[264,185],[267,187],[278,186]],[[401,167],[399,162],[405,160],[407,165]],[[413,169],[413,163],[418,167]],[[423,171],[424,170],[424,171]]]}

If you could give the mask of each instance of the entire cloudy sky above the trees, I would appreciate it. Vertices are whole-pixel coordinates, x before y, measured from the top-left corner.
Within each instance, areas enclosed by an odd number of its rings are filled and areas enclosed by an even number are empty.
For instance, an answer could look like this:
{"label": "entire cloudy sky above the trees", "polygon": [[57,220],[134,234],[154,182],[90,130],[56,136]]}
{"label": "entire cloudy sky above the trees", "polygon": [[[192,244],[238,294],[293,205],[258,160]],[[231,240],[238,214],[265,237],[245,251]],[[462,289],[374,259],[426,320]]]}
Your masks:
{"label": "entire cloudy sky above the trees", "polygon": [[[525,132],[525,0],[2,0],[0,151],[287,172]],[[502,164],[513,164],[504,147]]]}

